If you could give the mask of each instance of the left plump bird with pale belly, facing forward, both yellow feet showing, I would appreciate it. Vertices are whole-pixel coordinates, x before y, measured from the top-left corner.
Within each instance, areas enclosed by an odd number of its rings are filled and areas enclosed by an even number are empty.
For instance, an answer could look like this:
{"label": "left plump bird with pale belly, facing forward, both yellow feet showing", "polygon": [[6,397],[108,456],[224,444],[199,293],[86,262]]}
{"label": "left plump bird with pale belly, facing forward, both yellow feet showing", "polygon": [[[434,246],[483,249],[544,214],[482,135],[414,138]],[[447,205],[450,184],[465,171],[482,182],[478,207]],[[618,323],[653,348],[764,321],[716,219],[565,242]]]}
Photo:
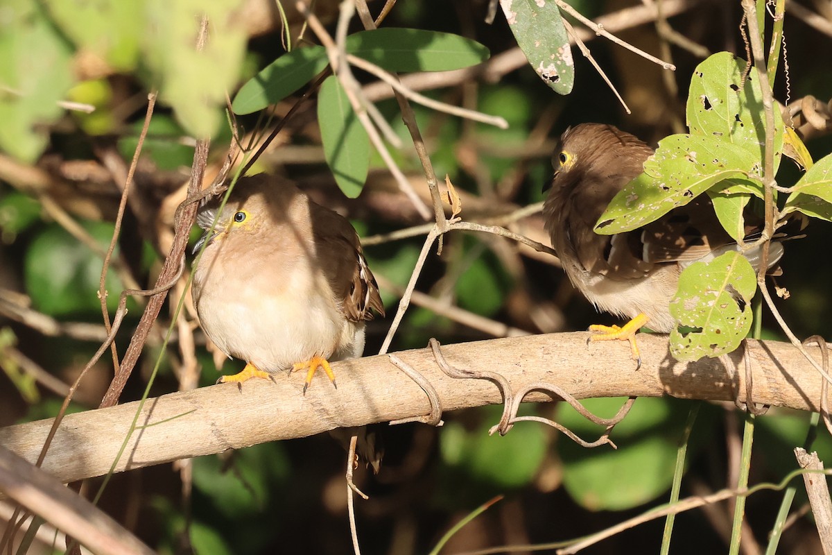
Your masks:
{"label": "left plump bird with pale belly, facing forward, both yellow feet showing", "polygon": [[[384,315],[359,236],[344,217],[310,201],[288,181],[244,177],[225,206],[216,198],[196,221],[205,245],[191,295],[203,330],[229,357],[245,360],[219,382],[317,369],[364,352],[364,323]],[[211,226],[213,225],[213,229]],[[364,458],[378,471],[374,446]]]}

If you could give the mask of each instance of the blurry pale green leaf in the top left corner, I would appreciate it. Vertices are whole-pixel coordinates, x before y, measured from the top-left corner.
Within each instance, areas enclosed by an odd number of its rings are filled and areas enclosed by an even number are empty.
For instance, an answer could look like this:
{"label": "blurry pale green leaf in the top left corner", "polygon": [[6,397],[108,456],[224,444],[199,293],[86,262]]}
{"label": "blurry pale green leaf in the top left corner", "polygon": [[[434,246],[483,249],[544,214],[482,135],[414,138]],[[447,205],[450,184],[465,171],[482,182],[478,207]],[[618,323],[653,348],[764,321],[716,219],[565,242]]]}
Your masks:
{"label": "blurry pale green leaf in the top left corner", "polygon": [[0,60],[0,149],[32,162],[72,86],[70,47],[37,2],[12,0],[2,7]]}

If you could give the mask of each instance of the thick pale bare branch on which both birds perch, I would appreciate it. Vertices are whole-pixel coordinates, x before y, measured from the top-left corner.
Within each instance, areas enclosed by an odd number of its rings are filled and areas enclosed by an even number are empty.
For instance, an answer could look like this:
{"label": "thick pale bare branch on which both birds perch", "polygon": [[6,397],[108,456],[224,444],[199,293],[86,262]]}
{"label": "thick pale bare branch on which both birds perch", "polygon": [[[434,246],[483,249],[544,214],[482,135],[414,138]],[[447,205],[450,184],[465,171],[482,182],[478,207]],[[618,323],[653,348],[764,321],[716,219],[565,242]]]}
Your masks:
{"label": "thick pale bare branch on which both birds perch", "polygon": [[[587,334],[538,334],[443,347],[460,369],[488,369],[508,378],[513,390],[557,384],[578,399],[671,394],[687,399],[745,401],[745,369],[726,369],[719,359],[683,364],[671,359],[666,337],[641,335],[642,365],[636,371],[625,344],[587,344]],[[443,410],[500,403],[494,384],[453,379],[438,369],[429,349],[398,354],[433,384]],[[742,364],[739,354],[735,364]],[[790,344],[750,341],[754,402],[820,409],[820,375]],[[319,434],[427,414],[428,399],[385,355],[333,364],[338,389],[317,379],[304,396],[300,376],[275,382],[254,379],[242,391],[232,384],[149,399],[143,426],[127,444],[116,472],[178,458],[220,453],[278,439]],[[530,400],[549,398],[532,394]],[[58,429],[43,468],[63,482],[106,473],[130,428],[136,403],[70,414]],[[52,424],[41,420],[0,429],[0,444],[29,461],[37,459]],[[534,424],[522,424],[534,425]],[[599,429],[599,434],[602,432]]]}

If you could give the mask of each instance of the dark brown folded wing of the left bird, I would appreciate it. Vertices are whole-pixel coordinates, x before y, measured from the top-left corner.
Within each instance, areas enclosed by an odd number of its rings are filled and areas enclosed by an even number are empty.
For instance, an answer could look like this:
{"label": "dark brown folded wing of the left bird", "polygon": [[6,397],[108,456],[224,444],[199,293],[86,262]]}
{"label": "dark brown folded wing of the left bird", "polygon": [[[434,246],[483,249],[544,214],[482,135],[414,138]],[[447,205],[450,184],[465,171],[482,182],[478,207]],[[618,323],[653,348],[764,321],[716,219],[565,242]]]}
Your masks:
{"label": "dark brown folded wing of the left bird", "polygon": [[361,249],[359,236],[349,221],[310,201],[310,217],[320,267],[329,280],[344,316],[354,322],[373,320],[375,310],[384,316],[379,285]]}

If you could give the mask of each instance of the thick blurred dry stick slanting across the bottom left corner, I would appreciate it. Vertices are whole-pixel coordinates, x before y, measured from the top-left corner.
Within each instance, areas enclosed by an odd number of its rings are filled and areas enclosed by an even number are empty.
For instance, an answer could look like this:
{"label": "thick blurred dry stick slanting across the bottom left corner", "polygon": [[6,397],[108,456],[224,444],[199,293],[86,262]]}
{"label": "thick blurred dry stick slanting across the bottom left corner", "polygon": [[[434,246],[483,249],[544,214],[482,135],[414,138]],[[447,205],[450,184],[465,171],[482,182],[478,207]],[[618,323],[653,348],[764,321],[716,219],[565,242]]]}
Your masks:
{"label": "thick blurred dry stick slanting across the bottom left corner", "polygon": [[0,445],[0,491],[102,555],[152,555],[153,550],[101,509]]}

